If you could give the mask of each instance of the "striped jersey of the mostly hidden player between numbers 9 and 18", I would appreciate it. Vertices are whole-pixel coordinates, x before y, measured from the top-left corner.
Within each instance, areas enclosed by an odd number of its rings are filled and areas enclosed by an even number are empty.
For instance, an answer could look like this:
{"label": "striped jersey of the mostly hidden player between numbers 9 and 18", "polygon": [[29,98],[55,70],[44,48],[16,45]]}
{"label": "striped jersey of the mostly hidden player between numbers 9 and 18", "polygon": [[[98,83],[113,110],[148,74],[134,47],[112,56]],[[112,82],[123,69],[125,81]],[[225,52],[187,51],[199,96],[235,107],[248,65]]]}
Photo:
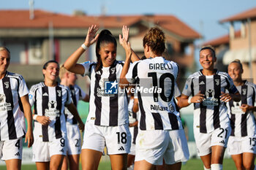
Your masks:
{"label": "striped jersey of the mostly hidden player between numbers 9 and 18", "polygon": [[[86,97],[86,93],[78,85],[71,85],[69,87],[69,90],[71,92],[71,98],[72,98],[73,104],[75,104],[75,107],[78,107],[78,101],[83,100],[83,98]],[[78,124],[78,121],[71,114],[71,112],[69,112],[69,109],[67,109],[67,107],[65,107],[64,113],[66,116],[67,124],[69,125]]]}

